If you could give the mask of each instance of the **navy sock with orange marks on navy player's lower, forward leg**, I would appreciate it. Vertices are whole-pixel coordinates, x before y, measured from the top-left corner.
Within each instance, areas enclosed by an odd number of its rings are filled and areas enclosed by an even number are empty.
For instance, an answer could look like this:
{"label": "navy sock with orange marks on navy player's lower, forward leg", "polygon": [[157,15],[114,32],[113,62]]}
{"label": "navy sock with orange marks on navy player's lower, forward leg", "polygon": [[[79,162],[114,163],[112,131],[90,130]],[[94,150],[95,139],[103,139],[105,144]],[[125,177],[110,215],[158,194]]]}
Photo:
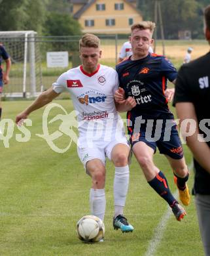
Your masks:
{"label": "navy sock with orange marks on navy player's lower, forward leg", "polygon": [[152,179],[152,181],[148,182],[150,186],[162,197],[166,202],[172,207],[174,203],[178,203],[177,200],[171,194],[169,190],[169,186],[167,184],[167,179],[161,171]]}

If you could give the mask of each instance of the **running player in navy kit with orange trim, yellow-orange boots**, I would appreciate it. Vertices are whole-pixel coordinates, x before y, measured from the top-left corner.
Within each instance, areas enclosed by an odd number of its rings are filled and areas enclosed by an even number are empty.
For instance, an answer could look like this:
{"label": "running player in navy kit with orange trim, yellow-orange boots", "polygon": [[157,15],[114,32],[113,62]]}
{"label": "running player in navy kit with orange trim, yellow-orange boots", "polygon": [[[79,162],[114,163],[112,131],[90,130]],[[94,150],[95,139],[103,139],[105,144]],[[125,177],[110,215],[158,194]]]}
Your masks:
{"label": "running player in navy kit with orange trim, yellow-orange boots", "polygon": [[188,205],[188,169],[177,125],[167,106],[167,100],[173,95],[173,91],[166,91],[167,79],[174,82],[177,71],[164,56],[149,53],[154,28],[153,22],[131,26],[133,55],[116,66],[120,88],[114,98],[117,110],[128,112],[128,133],[133,154],[147,181],[166,200],[176,219],[181,221],[186,211],[171,194],[164,173],[153,162],[153,154],[158,147],[173,169],[181,202]]}

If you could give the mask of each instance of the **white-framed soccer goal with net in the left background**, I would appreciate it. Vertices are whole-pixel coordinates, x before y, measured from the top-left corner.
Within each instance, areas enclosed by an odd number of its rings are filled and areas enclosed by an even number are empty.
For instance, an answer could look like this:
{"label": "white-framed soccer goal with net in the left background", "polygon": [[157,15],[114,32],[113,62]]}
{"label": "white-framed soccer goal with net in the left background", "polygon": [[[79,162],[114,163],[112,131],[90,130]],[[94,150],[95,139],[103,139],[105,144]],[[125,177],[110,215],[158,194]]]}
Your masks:
{"label": "white-framed soccer goal with net in the left background", "polygon": [[0,42],[12,62],[10,82],[4,86],[3,96],[28,98],[42,91],[41,54],[36,35],[34,31],[0,32]]}

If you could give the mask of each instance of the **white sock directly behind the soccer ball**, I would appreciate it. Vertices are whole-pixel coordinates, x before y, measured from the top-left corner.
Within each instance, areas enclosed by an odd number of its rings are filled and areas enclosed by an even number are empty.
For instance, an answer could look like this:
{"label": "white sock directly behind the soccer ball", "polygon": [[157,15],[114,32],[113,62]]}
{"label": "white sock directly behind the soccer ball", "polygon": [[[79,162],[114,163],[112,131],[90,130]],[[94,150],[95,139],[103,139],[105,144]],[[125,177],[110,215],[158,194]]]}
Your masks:
{"label": "white sock directly behind the soccer ball", "polygon": [[105,190],[90,188],[90,212],[102,221],[105,215],[106,198]]}

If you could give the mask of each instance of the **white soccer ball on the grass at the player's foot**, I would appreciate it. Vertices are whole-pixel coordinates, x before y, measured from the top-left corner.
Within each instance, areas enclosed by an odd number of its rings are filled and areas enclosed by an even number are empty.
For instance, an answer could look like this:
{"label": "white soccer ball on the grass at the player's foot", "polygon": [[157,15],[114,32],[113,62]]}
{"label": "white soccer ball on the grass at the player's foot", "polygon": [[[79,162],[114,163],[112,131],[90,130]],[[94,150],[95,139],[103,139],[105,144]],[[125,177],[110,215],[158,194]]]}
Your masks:
{"label": "white soccer ball on the grass at the player's foot", "polygon": [[103,221],[94,215],[86,215],[77,222],[77,236],[83,242],[99,242],[103,239],[105,227]]}

